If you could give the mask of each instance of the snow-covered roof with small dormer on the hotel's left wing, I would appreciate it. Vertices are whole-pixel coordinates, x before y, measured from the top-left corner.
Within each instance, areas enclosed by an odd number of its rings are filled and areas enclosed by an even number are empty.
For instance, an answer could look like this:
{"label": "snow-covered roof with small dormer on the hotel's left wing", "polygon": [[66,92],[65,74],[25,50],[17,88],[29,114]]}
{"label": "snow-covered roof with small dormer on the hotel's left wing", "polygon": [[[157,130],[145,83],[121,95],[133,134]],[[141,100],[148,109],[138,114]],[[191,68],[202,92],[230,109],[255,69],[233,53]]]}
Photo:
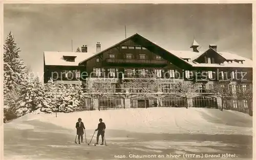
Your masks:
{"label": "snow-covered roof with small dormer on the hotel's left wing", "polygon": [[[44,52],[45,65],[68,65],[76,66],[84,59],[92,57],[93,53],[84,53],[84,52]],[[75,61],[66,61],[63,56],[76,56]]]}

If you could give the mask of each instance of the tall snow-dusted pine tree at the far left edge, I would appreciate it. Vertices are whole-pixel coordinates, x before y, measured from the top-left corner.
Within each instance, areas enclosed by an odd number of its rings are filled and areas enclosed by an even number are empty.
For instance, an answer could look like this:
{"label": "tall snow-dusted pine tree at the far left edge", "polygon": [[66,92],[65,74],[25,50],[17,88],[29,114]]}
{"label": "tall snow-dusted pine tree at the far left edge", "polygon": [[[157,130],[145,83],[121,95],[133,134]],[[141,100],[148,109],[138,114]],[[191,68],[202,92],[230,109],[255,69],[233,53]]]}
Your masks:
{"label": "tall snow-dusted pine tree at the far left edge", "polygon": [[17,87],[23,79],[25,65],[19,57],[20,49],[17,48],[12,32],[4,44],[4,93]]}

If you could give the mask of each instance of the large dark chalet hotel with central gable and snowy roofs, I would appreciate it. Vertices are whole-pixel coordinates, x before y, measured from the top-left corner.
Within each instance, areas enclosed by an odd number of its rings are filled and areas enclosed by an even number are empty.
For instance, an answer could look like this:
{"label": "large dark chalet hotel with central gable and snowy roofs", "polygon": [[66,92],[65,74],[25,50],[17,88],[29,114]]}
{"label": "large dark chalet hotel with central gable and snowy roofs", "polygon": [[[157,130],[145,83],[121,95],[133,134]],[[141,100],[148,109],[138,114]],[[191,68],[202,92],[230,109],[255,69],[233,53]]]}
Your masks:
{"label": "large dark chalet hotel with central gable and snowy roofs", "polygon": [[[222,100],[210,88],[215,83],[222,83],[236,95],[238,87],[252,87],[252,60],[220,52],[217,45],[209,45],[204,52],[199,52],[199,44],[194,40],[188,51],[167,51],[139,34],[134,34],[112,47],[101,51],[101,44],[96,43],[96,53],[88,53],[83,45],[81,52],[44,52],[44,82],[52,77],[56,83],[77,85],[88,80],[111,79],[113,96],[91,99],[84,96],[86,107],[221,107],[248,112],[248,100],[234,97]],[[161,98],[144,100],[137,96],[138,90],[127,88],[125,80],[136,78],[134,74],[142,71],[156,72],[161,83]],[[86,72],[87,74],[81,74]],[[192,76],[193,73],[206,73],[207,78]],[[53,74],[53,73],[59,73]],[[60,74],[65,73],[65,74]],[[73,73],[73,78],[69,74]],[[122,73],[122,74],[119,74]],[[168,74],[165,74],[168,73]],[[179,74],[177,74],[179,73]],[[107,77],[108,75],[108,77]],[[194,74],[195,75],[195,74]],[[164,96],[176,83],[195,83],[199,86],[198,94],[193,97]],[[160,93],[160,94],[161,94]],[[115,95],[122,96],[115,96]],[[252,108],[251,108],[252,109]]]}

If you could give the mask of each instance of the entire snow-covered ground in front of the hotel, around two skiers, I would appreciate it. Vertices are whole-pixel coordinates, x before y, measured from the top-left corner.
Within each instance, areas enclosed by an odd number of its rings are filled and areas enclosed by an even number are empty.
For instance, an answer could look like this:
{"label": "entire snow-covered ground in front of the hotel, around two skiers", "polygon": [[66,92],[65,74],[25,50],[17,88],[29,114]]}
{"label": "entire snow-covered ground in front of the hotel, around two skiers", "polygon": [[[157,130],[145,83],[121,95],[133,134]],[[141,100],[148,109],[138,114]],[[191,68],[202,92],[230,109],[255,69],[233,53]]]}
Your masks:
{"label": "entire snow-covered ground in front of the hotel, around two skiers", "polygon": [[[79,117],[87,128],[87,141],[102,118],[108,146],[75,145],[75,123]],[[170,153],[236,153],[238,159],[252,157],[252,117],[231,110],[137,108],[57,113],[57,118],[55,113],[30,113],[5,124],[4,128],[5,159],[9,160],[123,159],[115,155],[142,159],[129,155]],[[94,136],[92,143],[95,139]]]}

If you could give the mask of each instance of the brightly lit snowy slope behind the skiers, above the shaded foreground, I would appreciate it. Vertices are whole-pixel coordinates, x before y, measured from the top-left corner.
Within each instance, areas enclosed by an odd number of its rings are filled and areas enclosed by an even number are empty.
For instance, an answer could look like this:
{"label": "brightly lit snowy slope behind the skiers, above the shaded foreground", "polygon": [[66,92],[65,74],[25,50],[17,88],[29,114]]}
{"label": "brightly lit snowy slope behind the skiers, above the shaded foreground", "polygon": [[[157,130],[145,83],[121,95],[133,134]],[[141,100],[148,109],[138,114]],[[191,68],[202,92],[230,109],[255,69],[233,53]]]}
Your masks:
{"label": "brightly lit snowy slope behind the skiers, above the shaded foreground", "polygon": [[[20,121],[39,120],[75,131],[80,117],[87,129],[95,129],[102,118],[106,129],[141,133],[193,133],[252,135],[252,117],[237,111],[206,108],[136,108],[102,111],[82,111],[51,115],[30,113],[10,123],[19,129]],[[32,129],[32,128],[31,128]]]}

